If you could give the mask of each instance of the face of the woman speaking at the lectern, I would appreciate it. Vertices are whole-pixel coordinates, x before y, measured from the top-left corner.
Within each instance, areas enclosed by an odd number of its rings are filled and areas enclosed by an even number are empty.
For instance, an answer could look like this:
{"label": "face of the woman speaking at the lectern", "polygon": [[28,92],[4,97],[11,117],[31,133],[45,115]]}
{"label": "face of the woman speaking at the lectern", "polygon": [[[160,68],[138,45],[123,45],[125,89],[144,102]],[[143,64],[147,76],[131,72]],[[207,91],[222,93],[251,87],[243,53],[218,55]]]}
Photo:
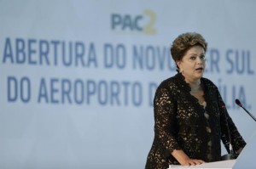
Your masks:
{"label": "face of the woman speaking at the lectern", "polygon": [[199,80],[206,68],[205,50],[197,45],[189,48],[183,59],[177,61],[177,65],[188,82]]}

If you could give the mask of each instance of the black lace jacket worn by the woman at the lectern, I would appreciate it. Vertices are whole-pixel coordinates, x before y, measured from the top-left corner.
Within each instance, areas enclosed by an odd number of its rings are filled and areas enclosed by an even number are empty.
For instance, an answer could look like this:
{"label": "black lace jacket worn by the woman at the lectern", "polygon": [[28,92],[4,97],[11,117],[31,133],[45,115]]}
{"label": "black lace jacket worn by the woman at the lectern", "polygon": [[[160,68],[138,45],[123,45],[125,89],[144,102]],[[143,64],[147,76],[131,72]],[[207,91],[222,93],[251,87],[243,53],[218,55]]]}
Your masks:
{"label": "black lace jacket worn by the woman at the lectern", "polygon": [[166,169],[169,164],[178,164],[171,155],[174,149],[183,149],[192,159],[219,161],[221,140],[229,152],[228,127],[233,149],[236,151],[246,145],[224,107],[218,88],[203,77],[201,86],[206,106],[189,93],[189,84],[180,73],[161,82],[157,88],[154,96],[154,143],[146,169]]}

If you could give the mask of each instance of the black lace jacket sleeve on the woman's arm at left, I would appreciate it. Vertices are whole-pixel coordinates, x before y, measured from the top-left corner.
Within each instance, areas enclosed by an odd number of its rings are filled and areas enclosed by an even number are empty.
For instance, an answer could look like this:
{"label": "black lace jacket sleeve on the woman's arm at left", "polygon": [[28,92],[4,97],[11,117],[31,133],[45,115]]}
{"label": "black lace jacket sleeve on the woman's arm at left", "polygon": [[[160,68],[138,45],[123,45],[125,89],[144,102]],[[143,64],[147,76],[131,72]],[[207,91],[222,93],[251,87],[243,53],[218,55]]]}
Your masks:
{"label": "black lace jacket sleeve on the woman's arm at left", "polygon": [[157,141],[164,149],[180,149],[175,138],[176,103],[166,88],[159,88],[154,97],[154,132]]}

